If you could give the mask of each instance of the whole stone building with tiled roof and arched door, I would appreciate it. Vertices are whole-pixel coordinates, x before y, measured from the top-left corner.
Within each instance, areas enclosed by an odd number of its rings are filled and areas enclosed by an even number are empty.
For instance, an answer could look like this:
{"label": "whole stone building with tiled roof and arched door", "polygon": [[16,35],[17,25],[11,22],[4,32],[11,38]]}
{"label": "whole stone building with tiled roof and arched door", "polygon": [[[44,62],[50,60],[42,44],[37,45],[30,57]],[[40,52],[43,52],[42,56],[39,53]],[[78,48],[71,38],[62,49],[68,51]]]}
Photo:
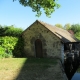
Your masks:
{"label": "whole stone building with tiled roof and arched door", "polygon": [[68,31],[36,20],[22,33],[27,57],[57,57],[63,59],[64,44],[77,39]]}

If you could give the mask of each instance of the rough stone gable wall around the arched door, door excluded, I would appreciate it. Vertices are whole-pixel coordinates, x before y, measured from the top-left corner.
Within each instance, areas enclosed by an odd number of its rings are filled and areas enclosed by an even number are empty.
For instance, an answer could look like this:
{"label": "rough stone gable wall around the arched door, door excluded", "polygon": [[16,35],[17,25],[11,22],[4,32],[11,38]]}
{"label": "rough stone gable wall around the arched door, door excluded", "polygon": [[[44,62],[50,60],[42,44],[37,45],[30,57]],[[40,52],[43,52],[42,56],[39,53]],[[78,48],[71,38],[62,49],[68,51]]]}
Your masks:
{"label": "rough stone gable wall around the arched door, door excluded", "polygon": [[35,40],[42,41],[43,57],[61,57],[61,40],[40,23],[35,22],[22,35],[26,56],[36,57]]}

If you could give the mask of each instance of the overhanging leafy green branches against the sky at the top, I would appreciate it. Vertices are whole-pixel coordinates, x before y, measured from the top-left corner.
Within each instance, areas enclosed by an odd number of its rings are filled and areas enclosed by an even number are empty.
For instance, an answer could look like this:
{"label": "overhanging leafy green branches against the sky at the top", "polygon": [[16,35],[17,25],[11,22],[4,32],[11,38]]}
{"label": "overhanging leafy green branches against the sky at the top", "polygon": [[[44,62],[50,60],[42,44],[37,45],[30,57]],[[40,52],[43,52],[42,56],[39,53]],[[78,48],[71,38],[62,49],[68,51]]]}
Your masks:
{"label": "overhanging leafy green branches against the sky at the top", "polygon": [[[16,1],[16,0],[13,0]],[[37,12],[36,16],[42,14],[41,9],[44,10],[44,13],[47,17],[55,11],[56,8],[59,8],[60,5],[57,3],[58,0],[18,0],[19,3],[23,6],[28,6],[32,8],[33,12]]]}

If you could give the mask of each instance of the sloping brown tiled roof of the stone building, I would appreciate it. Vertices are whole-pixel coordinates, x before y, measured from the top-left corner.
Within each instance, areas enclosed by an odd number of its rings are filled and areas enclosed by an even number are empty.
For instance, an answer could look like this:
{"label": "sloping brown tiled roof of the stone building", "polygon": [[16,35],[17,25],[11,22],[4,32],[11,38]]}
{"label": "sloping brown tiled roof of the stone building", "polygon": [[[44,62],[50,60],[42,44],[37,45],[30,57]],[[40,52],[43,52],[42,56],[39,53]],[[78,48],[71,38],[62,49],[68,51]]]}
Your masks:
{"label": "sloping brown tiled roof of the stone building", "polygon": [[54,33],[57,37],[59,37],[64,43],[66,42],[77,42],[78,40],[71,35],[67,30],[62,28],[58,28],[56,26],[50,25],[48,23],[44,23],[42,21],[36,20],[41,23],[44,27],[49,29],[52,33]]}

